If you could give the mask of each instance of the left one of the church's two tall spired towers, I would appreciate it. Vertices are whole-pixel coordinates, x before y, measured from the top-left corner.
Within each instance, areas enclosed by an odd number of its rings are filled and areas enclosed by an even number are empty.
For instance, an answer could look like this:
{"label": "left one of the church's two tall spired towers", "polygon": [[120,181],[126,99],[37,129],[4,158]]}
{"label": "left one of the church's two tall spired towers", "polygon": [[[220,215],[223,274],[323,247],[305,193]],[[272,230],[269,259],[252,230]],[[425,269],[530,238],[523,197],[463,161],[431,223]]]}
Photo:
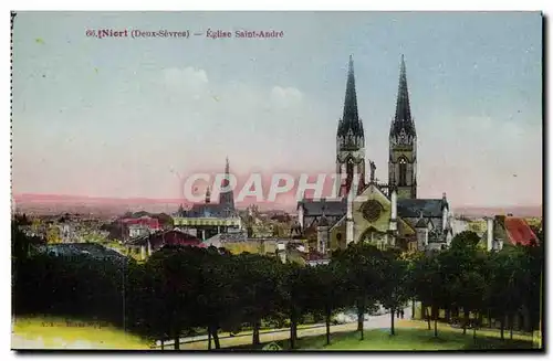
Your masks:
{"label": "left one of the church's two tall spired towers", "polygon": [[345,177],[336,182],[335,194],[345,197],[352,188],[354,174],[358,176],[359,190],[365,184],[365,134],[357,113],[353,59],[349,55],[344,115],[336,134],[336,174]]}

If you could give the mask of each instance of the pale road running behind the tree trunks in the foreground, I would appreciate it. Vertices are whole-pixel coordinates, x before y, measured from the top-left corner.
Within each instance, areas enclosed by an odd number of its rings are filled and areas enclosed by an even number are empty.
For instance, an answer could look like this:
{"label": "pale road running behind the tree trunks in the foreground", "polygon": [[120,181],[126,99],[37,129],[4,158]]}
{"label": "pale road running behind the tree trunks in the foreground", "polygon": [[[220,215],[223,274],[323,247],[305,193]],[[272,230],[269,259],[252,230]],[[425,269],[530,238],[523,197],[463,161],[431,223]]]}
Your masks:
{"label": "pale road running behind the tree trunks in the foreground", "polygon": [[[411,308],[410,306],[404,309],[404,318],[411,318]],[[390,326],[390,316],[389,314],[380,315],[380,316],[372,316],[368,320],[364,321],[365,330],[374,330],[374,329],[389,329]],[[355,331],[357,329],[357,322],[344,323],[331,326],[331,332],[345,332],[345,331]],[[310,336],[319,336],[324,335],[326,332],[325,325],[315,325],[311,327],[303,327],[298,330],[298,337],[310,337]],[[271,342],[271,341],[281,341],[290,338],[290,329],[279,329],[271,331],[261,331],[260,341],[261,343]],[[181,350],[207,350],[207,335],[188,337],[180,339],[180,349]],[[252,332],[243,332],[233,337],[225,336],[219,337],[221,348],[237,347],[243,344],[251,344]],[[164,344],[164,350],[173,350],[173,341],[167,341]]]}

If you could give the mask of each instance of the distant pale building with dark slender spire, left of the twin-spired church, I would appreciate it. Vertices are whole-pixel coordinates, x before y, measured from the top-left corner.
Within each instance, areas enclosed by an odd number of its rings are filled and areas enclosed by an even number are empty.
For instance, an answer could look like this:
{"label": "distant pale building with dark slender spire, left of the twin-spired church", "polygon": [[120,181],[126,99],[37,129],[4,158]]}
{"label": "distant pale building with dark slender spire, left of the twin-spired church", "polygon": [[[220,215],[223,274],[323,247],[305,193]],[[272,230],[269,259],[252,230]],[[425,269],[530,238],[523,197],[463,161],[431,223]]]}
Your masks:
{"label": "distant pale building with dark slender spire, left of the twin-spired church", "polygon": [[[225,189],[230,180],[229,159],[225,166],[226,177],[222,180]],[[234,194],[232,190],[220,192],[219,203],[211,203],[211,190],[206,191],[204,203],[197,203],[190,210],[180,208],[177,216],[174,217],[174,225],[178,229],[186,229],[188,232],[207,240],[219,233],[237,232],[242,229],[240,216],[234,208]]]}

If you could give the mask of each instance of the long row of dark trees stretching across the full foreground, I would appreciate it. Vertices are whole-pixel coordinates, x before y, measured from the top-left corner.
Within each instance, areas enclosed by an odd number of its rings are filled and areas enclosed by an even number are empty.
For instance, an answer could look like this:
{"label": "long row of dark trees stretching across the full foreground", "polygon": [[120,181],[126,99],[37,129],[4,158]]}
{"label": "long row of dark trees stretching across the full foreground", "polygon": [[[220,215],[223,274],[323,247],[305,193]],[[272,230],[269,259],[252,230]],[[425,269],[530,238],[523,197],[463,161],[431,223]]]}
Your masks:
{"label": "long row of dark trees stretching across the full foreground", "polygon": [[306,317],[324,320],[330,343],[332,317],[346,308],[356,309],[363,339],[364,315],[378,305],[390,310],[395,335],[395,310],[409,300],[431,309],[424,314],[429,328],[434,320],[436,336],[440,309],[447,319],[462,309],[463,327],[470,314],[473,321],[484,315],[498,319],[502,336],[520,315],[529,330],[536,328],[542,247],[487,253],[476,240],[461,233],[449,249],[426,255],[352,244],[316,267],[215,247],[165,247],[145,264],[115,266],[87,257],[23,257],[14,272],[14,310],[102,317],[155,340],[174,339],[176,348],[198,328],[208,331],[210,348],[220,348],[221,330],[243,327],[259,344],[262,325],[289,326],[294,348],[298,325]]}

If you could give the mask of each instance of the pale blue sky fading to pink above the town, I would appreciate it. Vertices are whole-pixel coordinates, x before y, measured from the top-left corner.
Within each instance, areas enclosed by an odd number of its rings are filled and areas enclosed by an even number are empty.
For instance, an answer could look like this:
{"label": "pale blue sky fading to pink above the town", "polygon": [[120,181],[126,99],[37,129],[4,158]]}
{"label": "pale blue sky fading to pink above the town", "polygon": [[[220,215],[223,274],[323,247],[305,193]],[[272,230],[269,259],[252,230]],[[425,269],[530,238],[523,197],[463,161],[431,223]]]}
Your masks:
{"label": "pale blue sky fading to pink above the town", "polygon": [[[101,29],[283,36],[86,36]],[[179,198],[226,157],[241,174],[333,172],[349,54],[377,178],[404,54],[418,197],[542,203],[539,12],[20,12],[13,193]]]}

